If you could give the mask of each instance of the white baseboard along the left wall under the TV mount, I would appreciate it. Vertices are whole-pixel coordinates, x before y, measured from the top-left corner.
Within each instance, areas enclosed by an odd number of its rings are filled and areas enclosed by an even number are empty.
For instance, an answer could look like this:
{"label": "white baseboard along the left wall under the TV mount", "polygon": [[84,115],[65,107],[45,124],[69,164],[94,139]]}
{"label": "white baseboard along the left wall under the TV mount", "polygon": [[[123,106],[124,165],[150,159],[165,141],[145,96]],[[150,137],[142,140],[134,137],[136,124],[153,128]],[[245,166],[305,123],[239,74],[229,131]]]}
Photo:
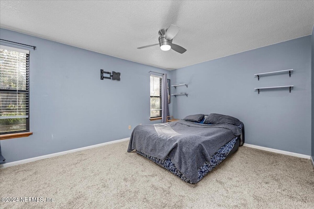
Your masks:
{"label": "white baseboard along the left wall under the TV mount", "polygon": [[85,149],[92,149],[92,148],[105,146],[105,145],[113,144],[113,143],[118,143],[118,142],[122,142],[122,141],[127,141],[127,140],[130,140],[130,137],[129,138],[125,138],[125,139],[108,141],[108,142],[101,143],[101,144],[85,146],[85,147],[81,147],[81,148],[78,148],[78,149],[71,149],[71,150],[67,150],[67,151],[63,151],[63,152],[52,153],[52,154],[49,154],[49,155],[42,155],[42,156],[38,156],[38,157],[34,157],[34,158],[28,158],[28,159],[21,160],[21,161],[14,161],[14,162],[10,162],[10,163],[4,163],[4,164],[0,164],[0,168],[11,167],[11,166],[14,166],[14,165],[19,165],[19,164],[24,164],[24,163],[30,163],[30,162],[34,162],[34,161],[47,159],[47,158],[53,158],[53,157],[60,156],[60,155],[65,155],[65,154],[69,154],[69,153],[73,153],[73,152],[78,152],[78,151],[82,151],[82,150],[85,150]]}

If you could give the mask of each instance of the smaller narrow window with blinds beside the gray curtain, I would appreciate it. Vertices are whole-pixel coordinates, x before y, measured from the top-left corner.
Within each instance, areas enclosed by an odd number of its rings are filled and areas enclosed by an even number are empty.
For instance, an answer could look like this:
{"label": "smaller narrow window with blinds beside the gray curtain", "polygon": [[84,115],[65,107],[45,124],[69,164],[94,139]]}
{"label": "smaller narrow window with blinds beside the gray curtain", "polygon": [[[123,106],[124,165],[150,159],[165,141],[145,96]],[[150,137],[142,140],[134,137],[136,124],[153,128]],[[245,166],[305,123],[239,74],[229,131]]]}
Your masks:
{"label": "smaller narrow window with blinds beside the gray curtain", "polygon": [[161,117],[161,77],[151,75],[151,118]]}

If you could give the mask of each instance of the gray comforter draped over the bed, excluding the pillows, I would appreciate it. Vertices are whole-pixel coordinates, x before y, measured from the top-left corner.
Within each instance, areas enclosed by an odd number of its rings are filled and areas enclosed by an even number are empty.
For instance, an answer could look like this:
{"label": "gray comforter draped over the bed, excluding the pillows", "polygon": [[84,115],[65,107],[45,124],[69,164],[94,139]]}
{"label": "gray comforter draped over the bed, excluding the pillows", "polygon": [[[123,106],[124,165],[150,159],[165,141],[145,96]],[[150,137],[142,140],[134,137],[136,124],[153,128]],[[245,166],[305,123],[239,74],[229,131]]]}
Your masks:
{"label": "gray comforter draped over the bed, excluding the pillows", "polygon": [[128,152],[136,149],[161,160],[169,156],[187,179],[197,183],[198,169],[241,133],[235,125],[206,125],[184,120],[138,125],[131,134]]}

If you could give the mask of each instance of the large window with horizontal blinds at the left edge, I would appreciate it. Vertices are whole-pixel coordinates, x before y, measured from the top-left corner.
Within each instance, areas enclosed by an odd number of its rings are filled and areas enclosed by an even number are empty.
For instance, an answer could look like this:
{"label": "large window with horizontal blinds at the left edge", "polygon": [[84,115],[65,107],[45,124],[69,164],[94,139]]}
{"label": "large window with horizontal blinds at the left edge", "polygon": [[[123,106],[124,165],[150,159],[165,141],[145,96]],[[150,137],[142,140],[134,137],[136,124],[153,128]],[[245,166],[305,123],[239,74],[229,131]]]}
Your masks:
{"label": "large window with horizontal blinds at the left edge", "polygon": [[29,51],[0,46],[0,134],[29,131]]}

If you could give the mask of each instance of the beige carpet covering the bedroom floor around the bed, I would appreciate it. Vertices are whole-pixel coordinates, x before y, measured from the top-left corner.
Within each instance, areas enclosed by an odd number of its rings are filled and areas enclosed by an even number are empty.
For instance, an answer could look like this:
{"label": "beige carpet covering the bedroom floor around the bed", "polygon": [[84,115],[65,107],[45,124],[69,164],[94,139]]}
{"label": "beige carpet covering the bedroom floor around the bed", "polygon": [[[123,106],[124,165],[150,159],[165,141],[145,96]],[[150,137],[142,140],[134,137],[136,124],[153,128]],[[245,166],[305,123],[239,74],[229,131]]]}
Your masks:
{"label": "beige carpet covering the bedroom floor around the bed", "polygon": [[[0,202],[0,208],[314,209],[310,160],[240,147],[190,185],[127,153],[127,146],[125,141],[0,169],[1,198],[44,200]],[[47,197],[54,202],[45,202]]]}

